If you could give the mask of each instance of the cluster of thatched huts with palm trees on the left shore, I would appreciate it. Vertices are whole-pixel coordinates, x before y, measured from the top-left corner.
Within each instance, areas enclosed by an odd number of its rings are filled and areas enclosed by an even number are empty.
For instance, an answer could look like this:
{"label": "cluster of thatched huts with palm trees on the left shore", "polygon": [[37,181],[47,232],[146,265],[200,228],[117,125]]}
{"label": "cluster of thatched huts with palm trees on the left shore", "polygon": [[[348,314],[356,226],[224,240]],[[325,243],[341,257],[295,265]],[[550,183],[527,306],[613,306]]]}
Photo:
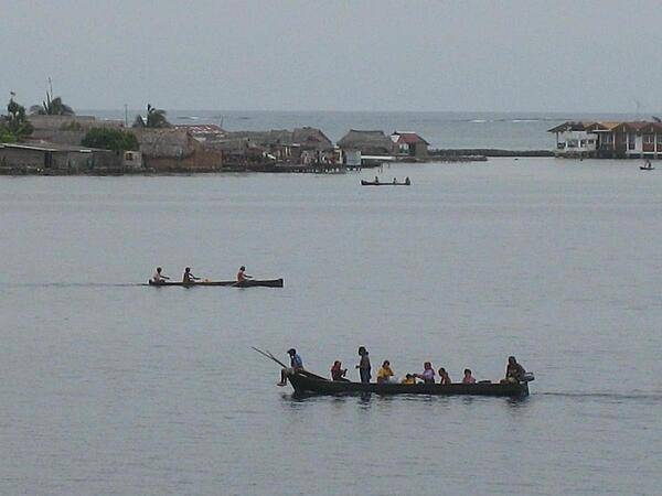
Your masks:
{"label": "cluster of thatched huts with palm trees on the left shore", "polygon": [[[163,110],[152,106],[146,117],[137,116],[128,126],[126,120],[75,115],[58,98],[46,96],[43,108],[35,107],[30,115],[10,100],[0,126],[14,133],[0,140],[0,173],[332,173],[428,160],[429,143],[413,131],[387,136],[381,130],[351,129],[333,143],[311,127],[226,131],[210,123],[173,126]],[[60,111],[47,112],[54,101]]]}

